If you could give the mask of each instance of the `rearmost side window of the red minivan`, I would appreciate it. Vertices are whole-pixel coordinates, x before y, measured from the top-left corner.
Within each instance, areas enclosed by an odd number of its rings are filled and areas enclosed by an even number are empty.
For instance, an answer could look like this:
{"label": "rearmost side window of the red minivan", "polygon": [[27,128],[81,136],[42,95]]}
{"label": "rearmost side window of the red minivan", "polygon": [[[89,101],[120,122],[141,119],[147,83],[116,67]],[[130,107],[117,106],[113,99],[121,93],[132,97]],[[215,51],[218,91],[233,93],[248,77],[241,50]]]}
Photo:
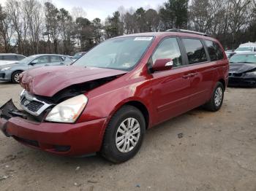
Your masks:
{"label": "rearmost side window of the red minivan", "polygon": [[210,55],[211,61],[219,61],[224,58],[222,49],[217,42],[206,40],[206,47]]}

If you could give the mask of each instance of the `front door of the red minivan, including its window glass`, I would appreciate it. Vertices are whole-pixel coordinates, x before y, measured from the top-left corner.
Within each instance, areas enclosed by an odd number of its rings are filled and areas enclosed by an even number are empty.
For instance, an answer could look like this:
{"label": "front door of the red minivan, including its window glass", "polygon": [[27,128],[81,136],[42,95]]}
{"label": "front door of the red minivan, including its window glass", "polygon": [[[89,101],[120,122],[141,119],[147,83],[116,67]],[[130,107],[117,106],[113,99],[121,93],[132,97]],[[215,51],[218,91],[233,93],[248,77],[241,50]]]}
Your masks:
{"label": "front door of the red minivan, including its window glass", "polygon": [[188,98],[191,94],[187,67],[176,38],[164,39],[152,55],[152,62],[157,59],[171,58],[173,69],[154,72],[152,79],[153,105],[157,114],[156,123],[187,112]]}

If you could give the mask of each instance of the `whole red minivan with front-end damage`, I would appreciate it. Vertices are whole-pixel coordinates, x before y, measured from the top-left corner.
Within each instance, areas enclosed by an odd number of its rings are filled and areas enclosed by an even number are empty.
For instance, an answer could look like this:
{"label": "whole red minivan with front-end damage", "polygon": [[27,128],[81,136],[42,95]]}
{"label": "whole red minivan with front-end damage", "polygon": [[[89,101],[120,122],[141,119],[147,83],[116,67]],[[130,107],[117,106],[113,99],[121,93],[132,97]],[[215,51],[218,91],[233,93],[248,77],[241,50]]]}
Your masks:
{"label": "whole red minivan with front-end damage", "polygon": [[22,144],[58,155],[99,152],[121,163],[148,128],[198,106],[222,106],[229,65],[216,39],[193,31],[118,36],[72,66],[20,75],[20,106],[0,109],[0,127]]}

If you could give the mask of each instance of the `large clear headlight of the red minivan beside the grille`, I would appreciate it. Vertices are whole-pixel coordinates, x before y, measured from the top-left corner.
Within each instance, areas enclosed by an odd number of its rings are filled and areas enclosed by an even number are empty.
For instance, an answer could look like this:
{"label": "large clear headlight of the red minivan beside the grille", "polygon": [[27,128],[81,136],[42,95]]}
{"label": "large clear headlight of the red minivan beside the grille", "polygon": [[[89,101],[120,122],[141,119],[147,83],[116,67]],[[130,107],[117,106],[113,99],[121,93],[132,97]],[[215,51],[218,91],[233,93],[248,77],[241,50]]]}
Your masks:
{"label": "large clear headlight of the red minivan beside the grille", "polygon": [[86,107],[88,98],[86,95],[78,95],[69,98],[56,105],[50,111],[45,120],[50,122],[75,122]]}

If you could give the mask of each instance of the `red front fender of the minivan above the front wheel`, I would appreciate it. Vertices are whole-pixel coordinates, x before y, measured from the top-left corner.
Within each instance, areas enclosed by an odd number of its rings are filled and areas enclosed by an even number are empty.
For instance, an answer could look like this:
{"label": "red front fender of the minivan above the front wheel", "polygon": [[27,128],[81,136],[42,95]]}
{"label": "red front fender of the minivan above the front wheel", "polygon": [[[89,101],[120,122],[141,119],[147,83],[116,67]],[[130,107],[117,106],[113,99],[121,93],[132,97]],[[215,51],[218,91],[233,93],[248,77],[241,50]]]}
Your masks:
{"label": "red front fender of the minivan above the front wheel", "polygon": [[[104,86],[104,85],[103,85]],[[106,89],[102,88],[102,89]],[[138,101],[151,113],[151,81],[136,82],[132,85],[119,87],[108,92],[91,97],[90,93],[86,109],[81,114],[78,122],[97,120],[104,117],[112,117],[113,114],[129,101]]]}

